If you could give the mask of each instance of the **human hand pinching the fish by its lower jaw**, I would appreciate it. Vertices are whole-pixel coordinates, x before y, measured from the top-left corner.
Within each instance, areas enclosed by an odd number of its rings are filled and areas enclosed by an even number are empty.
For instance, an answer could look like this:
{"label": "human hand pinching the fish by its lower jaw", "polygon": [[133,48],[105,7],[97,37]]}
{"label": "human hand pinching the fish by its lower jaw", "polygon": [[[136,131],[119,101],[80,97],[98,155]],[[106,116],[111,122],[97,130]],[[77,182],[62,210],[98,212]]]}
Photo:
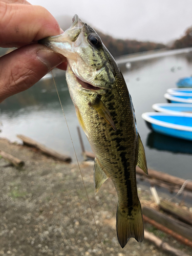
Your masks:
{"label": "human hand pinching the fish by its lower jaw", "polygon": [[0,102],[25,91],[54,67],[66,70],[66,58],[37,44],[59,35],[56,19],[25,0],[0,0],[0,47],[19,47],[0,58]]}

